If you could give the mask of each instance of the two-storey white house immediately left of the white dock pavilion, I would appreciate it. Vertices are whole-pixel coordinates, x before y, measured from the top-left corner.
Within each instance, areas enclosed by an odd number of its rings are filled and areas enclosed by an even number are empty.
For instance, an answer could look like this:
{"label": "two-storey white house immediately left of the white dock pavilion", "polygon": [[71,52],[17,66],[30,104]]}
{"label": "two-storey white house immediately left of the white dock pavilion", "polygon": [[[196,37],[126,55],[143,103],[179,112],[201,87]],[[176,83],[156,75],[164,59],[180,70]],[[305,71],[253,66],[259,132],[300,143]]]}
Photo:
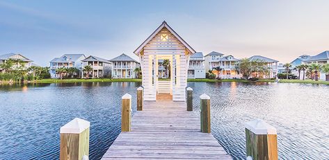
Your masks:
{"label": "two-storey white house immediately left of the white dock pavilion", "polygon": [[137,78],[136,68],[140,67],[139,62],[125,53],[110,60],[112,62],[112,78]]}

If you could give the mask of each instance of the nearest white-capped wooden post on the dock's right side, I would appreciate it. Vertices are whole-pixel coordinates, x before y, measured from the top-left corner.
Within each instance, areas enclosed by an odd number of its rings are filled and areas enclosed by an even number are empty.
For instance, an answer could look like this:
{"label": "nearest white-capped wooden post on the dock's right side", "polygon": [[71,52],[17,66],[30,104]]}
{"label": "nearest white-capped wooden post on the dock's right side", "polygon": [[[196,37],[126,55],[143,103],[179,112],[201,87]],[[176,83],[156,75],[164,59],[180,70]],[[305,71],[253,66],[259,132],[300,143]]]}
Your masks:
{"label": "nearest white-capped wooden post on the dock's right side", "polygon": [[275,127],[261,119],[245,124],[247,157],[250,159],[278,159],[278,141]]}

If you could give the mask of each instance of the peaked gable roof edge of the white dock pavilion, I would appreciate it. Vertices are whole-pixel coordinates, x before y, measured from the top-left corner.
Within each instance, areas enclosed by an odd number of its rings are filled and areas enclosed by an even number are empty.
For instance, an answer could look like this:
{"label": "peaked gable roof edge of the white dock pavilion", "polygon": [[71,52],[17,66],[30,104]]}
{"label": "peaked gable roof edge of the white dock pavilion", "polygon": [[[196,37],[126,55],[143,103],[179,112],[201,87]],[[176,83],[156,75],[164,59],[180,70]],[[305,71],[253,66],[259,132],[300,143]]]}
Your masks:
{"label": "peaked gable roof edge of the white dock pavilion", "polygon": [[191,53],[195,53],[195,50],[188,44],[184,41],[184,39],[182,39],[182,37],[180,37],[176,32],[175,30],[173,30],[168,24],[166,21],[163,21],[162,24],[156,29],[154,30],[154,32],[149,36],[147,37],[147,39],[145,39],[145,41],[140,45],[138,46],[138,48],[136,48],[136,50],[134,51],[134,53],[136,55],[138,55],[141,50],[143,49],[143,47],[148,43],[150,42],[150,40],[155,36],[157,35],[157,33],[159,33],[159,31],[162,29],[162,28],[167,28],[170,33],[172,33],[172,35],[175,35],[175,37],[179,40],[179,42],[181,42],[186,48],[188,48],[188,50],[191,52]]}

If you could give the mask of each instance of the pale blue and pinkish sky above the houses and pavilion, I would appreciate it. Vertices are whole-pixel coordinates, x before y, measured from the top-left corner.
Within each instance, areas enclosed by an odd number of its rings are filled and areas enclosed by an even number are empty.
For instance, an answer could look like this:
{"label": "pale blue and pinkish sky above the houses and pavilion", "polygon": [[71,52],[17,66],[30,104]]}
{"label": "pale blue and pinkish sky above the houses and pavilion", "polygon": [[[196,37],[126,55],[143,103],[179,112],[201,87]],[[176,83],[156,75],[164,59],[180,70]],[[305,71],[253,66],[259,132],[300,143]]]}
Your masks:
{"label": "pale blue and pinkish sky above the houses and pavilion", "polygon": [[65,53],[111,59],[134,50],[167,23],[195,51],[282,63],[329,50],[329,1],[2,1],[0,55],[36,64]]}

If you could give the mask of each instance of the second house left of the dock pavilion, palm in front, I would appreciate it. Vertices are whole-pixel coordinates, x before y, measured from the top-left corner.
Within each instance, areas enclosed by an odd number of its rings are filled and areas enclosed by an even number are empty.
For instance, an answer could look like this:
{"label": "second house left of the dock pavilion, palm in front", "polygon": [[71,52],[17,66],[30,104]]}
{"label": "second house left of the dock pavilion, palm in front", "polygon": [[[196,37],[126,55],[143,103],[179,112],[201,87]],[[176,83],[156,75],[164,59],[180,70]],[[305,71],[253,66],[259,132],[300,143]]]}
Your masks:
{"label": "second house left of the dock pavilion, palm in front", "polygon": [[[111,62],[109,60],[90,55],[89,57],[86,57],[86,59],[82,60],[82,62],[82,69],[87,65],[93,68],[93,71],[90,72],[88,78],[104,78],[110,77],[111,75]],[[82,73],[82,78],[84,77],[84,74],[85,73]]]}

